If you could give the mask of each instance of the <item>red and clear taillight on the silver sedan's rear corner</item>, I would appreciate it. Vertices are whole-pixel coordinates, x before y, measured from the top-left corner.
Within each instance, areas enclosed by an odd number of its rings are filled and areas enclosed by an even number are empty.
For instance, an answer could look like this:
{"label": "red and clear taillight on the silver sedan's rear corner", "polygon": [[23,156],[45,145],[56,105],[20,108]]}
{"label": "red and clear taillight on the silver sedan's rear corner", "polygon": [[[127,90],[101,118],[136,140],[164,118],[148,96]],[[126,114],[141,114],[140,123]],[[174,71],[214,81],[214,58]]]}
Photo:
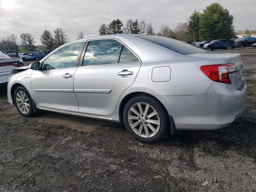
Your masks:
{"label": "red and clear taillight on the silver sedan's rear corner", "polygon": [[237,72],[234,64],[204,65],[201,70],[213,81],[231,84],[228,74]]}

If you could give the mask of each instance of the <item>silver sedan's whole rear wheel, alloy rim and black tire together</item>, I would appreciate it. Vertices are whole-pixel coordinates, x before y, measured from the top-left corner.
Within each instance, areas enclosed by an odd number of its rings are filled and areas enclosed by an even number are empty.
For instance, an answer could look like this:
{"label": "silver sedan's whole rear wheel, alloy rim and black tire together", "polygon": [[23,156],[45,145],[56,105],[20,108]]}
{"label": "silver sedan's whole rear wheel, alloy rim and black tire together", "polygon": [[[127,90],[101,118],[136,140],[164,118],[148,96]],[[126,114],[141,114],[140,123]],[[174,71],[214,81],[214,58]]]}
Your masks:
{"label": "silver sedan's whole rear wheel, alloy rim and black tire together", "polygon": [[127,102],[123,119],[128,132],[145,143],[162,140],[170,129],[168,114],[162,104],[143,94]]}

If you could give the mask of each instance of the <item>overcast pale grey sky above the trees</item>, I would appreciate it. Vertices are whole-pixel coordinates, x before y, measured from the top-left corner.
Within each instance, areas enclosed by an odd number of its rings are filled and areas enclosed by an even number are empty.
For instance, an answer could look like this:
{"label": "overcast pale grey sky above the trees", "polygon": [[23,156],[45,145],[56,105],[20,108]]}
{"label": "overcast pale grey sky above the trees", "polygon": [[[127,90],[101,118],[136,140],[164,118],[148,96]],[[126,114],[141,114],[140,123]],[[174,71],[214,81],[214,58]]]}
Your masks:
{"label": "overcast pale grey sky above the trees", "polygon": [[85,37],[97,36],[102,23],[120,19],[151,22],[154,32],[167,24],[174,29],[198,10],[218,2],[234,16],[236,30],[256,29],[256,0],[0,0],[0,38],[31,33],[41,44],[44,30],[63,28],[70,41],[80,31]]}

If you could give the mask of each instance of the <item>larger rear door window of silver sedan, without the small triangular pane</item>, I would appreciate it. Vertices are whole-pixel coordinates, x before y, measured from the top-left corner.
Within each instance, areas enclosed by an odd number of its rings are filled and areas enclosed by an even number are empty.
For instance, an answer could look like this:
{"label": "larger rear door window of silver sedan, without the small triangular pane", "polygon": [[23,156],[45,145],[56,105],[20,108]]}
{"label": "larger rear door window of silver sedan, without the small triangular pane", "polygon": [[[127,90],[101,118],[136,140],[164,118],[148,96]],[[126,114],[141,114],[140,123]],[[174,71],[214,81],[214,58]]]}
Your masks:
{"label": "larger rear door window of silver sedan, without the small triangular pane", "polygon": [[116,40],[90,41],[84,54],[83,66],[118,63],[122,44]]}

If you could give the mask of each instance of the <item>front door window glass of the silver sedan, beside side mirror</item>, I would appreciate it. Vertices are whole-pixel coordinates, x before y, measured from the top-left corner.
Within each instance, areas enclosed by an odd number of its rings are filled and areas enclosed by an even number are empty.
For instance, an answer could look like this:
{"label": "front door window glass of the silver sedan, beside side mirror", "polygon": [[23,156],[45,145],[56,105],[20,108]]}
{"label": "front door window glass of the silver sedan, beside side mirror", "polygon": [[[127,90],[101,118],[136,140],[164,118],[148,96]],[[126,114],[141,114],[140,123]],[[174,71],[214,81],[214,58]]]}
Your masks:
{"label": "front door window glass of the silver sedan, beside side mirror", "polygon": [[82,49],[84,42],[67,45],[60,50],[56,51],[46,60],[44,60],[42,69],[60,69],[75,67],[77,56]]}

